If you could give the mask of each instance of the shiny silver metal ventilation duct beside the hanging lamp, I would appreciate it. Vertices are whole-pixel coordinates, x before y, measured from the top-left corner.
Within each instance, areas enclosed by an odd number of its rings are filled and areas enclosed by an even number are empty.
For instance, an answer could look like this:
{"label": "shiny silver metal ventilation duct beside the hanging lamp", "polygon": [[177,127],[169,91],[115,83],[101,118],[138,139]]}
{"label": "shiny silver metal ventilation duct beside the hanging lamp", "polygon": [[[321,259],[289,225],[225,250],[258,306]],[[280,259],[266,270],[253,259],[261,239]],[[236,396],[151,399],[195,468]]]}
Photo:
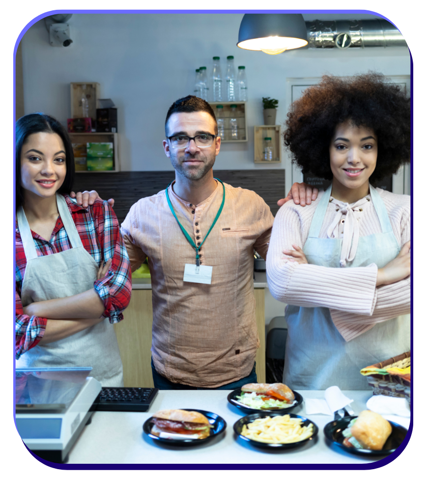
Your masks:
{"label": "shiny silver metal ventilation duct beside the hanging lamp", "polygon": [[310,48],[400,47],[411,44],[386,20],[305,22]]}

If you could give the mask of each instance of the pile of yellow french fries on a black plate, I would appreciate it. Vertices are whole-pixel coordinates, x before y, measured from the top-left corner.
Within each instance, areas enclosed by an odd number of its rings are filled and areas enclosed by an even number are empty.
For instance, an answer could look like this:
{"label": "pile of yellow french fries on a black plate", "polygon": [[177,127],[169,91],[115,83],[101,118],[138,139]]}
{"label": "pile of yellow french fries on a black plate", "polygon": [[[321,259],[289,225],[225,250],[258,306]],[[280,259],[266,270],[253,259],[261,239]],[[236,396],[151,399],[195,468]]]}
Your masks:
{"label": "pile of yellow french fries on a black plate", "polygon": [[295,443],[306,440],[313,434],[313,425],[302,426],[300,418],[290,415],[257,418],[243,425],[241,435],[263,443]]}

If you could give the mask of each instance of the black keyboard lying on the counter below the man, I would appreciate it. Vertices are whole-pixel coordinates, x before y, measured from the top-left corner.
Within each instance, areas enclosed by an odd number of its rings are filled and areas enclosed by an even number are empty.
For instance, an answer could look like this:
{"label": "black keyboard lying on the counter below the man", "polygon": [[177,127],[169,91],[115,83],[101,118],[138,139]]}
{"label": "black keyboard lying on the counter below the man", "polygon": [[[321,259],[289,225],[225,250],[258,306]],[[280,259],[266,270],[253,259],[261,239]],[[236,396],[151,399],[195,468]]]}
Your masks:
{"label": "black keyboard lying on the counter below the man", "polygon": [[146,412],[157,394],[158,389],[102,387],[93,405],[100,412]]}

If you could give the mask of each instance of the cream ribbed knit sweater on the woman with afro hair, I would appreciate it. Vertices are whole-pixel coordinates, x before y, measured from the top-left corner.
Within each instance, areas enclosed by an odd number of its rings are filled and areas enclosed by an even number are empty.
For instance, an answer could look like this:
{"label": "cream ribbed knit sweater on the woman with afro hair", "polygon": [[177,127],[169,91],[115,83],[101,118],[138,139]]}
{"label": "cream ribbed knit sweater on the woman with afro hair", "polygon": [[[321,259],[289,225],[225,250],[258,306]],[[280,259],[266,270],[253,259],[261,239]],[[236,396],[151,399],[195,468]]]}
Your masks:
{"label": "cream ribbed knit sweater on the woman with afro hair", "polygon": [[[371,187],[371,186],[370,186]],[[376,188],[385,203],[395,237],[402,247],[410,240],[410,196],[392,194]],[[367,332],[374,324],[410,313],[410,277],[390,285],[376,287],[377,266],[329,268],[314,264],[290,262],[284,250],[292,244],[304,247],[313,214],[324,193],[309,206],[292,200],[278,211],[269,244],[266,272],[271,294],[279,301],[299,307],[327,307],[342,337],[352,340]],[[370,198],[370,196],[368,196]],[[330,202],[320,238],[336,214],[336,199]],[[341,203],[340,203],[341,204]],[[359,217],[359,235],[381,232],[379,218],[370,200],[363,205]],[[344,233],[343,225],[340,237]],[[333,239],[330,239],[331,241]]]}

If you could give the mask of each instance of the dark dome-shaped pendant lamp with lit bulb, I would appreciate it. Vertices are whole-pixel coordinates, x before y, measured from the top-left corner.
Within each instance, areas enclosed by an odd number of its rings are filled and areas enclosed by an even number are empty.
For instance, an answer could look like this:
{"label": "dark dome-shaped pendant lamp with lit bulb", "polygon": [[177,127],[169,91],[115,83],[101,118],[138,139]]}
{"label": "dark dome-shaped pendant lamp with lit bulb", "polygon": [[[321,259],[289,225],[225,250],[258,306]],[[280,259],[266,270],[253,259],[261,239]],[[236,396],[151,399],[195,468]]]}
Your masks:
{"label": "dark dome-shaped pendant lamp with lit bulb", "polygon": [[237,47],[278,55],[308,45],[301,13],[246,13],[241,20]]}

